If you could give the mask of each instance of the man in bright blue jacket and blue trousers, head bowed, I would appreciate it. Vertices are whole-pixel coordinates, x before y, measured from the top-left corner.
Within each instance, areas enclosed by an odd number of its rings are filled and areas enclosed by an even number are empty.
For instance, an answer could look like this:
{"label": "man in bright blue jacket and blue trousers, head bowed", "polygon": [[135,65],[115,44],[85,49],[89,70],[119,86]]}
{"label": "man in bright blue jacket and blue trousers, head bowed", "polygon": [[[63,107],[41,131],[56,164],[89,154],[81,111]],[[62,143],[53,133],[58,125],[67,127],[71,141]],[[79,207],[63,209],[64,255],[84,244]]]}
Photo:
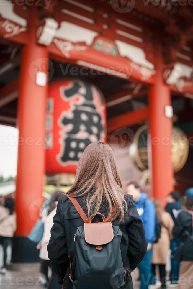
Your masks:
{"label": "man in bright blue jacket and blue trousers, head bowed", "polygon": [[153,205],[153,202],[148,198],[148,196],[140,190],[140,187],[137,183],[130,182],[127,185],[127,193],[133,195],[133,201],[137,207],[140,218],[142,219],[145,228],[145,236],[148,241],[147,253],[143,258],[143,260],[141,261],[141,263],[138,265],[141,279],[140,288],[141,289],[160,288],[161,282],[155,279],[152,282],[153,275],[151,272],[151,259],[153,252],[152,247],[156,227],[155,207]]}

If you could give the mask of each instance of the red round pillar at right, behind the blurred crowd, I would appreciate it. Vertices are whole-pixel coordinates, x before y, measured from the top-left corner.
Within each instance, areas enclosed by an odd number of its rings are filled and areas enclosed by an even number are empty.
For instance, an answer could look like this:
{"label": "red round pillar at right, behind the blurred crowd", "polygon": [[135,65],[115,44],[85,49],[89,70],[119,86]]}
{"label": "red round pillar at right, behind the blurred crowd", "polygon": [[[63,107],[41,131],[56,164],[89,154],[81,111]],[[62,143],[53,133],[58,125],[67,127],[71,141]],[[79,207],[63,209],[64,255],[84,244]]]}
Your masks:
{"label": "red round pillar at right, behind the blurred crowd", "polygon": [[151,135],[151,182],[153,197],[165,205],[165,198],[173,189],[171,162],[172,118],[166,116],[171,106],[169,87],[163,80],[161,46],[156,47],[156,78],[149,91],[149,131]]}

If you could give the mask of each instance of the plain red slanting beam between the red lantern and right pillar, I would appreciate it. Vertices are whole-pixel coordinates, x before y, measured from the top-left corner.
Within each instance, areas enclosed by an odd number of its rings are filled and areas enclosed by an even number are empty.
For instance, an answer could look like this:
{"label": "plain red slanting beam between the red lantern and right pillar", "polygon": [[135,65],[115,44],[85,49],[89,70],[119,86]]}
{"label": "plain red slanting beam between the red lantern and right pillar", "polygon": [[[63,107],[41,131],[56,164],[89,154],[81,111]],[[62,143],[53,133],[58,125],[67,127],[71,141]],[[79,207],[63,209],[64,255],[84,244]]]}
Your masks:
{"label": "plain red slanting beam between the red lantern and right pillar", "polygon": [[111,119],[107,119],[107,134],[122,127],[132,126],[140,121],[144,121],[147,118],[148,107],[112,117]]}

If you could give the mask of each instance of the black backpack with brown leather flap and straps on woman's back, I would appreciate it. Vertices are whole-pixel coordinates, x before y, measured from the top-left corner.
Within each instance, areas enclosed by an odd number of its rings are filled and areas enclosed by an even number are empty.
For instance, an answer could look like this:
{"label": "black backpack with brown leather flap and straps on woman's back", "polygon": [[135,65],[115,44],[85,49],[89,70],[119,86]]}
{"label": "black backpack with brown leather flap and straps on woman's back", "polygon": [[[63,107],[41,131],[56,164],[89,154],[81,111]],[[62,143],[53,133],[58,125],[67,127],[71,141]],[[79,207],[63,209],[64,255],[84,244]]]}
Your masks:
{"label": "black backpack with brown leather flap and straps on woman's back", "polygon": [[73,289],[133,289],[130,271],[124,267],[120,243],[122,232],[119,226],[107,222],[88,223],[88,217],[76,198],[69,197],[84,221],[74,234],[76,265],[63,280],[63,289],[67,277],[73,283]]}

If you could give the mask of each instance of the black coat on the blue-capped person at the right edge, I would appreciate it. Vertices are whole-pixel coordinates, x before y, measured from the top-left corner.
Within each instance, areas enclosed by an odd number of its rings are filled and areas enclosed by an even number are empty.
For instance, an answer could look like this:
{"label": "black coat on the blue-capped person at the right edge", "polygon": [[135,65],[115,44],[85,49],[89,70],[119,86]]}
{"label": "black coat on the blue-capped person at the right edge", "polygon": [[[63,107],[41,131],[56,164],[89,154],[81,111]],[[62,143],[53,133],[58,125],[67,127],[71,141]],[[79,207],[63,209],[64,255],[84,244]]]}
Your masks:
{"label": "black coat on the blue-capped person at the right edge", "polygon": [[174,238],[180,238],[180,241],[184,243],[181,261],[193,261],[193,241],[187,236],[187,231],[192,235],[192,214],[182,211],[173,228]]}

